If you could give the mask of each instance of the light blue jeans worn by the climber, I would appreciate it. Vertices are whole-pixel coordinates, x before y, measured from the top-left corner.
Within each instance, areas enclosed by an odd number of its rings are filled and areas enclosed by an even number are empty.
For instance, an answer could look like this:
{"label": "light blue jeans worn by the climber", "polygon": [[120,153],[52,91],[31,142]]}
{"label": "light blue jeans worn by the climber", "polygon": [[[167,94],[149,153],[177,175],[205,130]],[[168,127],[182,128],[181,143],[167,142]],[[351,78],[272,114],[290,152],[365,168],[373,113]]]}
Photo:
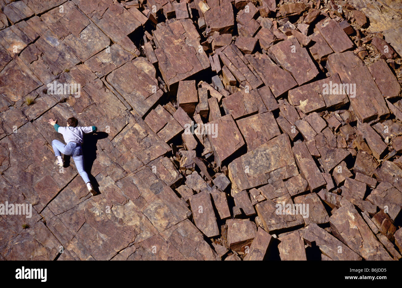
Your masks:
{"label": "light blue jeans worn by the climber", "polygon": [[90,182],[88,174],[85,172],[84,169],[84,155],[82,154],[81,145],[75,142],[68,142],[67,145],[65,145],[59,140],[53,140],[51,142],[51,146],[53,147],[53,151],[56,156],[62,156],[61,153],[63,153],[64,155],[72,156],[72,158],[74,159],[74,163],[76,164],[78,173],[80,173],[82,179],[85,181],[85,183]]}

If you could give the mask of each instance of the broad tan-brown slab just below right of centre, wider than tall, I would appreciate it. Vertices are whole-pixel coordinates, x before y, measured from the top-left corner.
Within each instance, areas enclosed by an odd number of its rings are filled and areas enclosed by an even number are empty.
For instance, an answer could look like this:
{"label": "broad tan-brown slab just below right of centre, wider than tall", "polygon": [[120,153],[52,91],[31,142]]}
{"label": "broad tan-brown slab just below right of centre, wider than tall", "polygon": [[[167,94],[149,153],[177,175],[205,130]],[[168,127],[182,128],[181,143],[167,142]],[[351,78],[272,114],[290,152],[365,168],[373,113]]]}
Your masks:
{"label": "broad tan-brown slab just below right of centre, wider than tall", "polygon": [[238,191],[298,174],[289,137],[281,134],[228,165],[232,187]]}

